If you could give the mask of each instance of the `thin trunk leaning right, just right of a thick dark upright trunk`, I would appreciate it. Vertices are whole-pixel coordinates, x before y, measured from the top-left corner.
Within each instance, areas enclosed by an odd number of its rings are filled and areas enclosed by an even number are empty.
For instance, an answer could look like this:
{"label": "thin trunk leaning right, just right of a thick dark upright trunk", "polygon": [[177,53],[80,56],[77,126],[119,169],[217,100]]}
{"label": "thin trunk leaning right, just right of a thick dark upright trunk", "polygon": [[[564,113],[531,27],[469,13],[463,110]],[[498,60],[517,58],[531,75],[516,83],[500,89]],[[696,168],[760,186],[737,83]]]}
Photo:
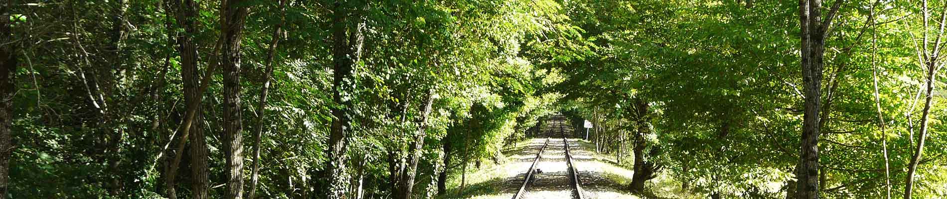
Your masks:
{"label": "thin trunk leaning right, just right of a thick dark upright trunk", "polygon": [[259,91],[259,104],[257,105],[257,127],[253,132],[253,174],[250,175],[250,193],[247,198],[253,199],[257,196],[257,182],[259,181],[259,145],[263,134],[263,119],[266,118],[266,97],[270,91],[270,76],[273,75],[273,58],[276,57],[277,45],[279,44],[279,32],[283,23],[286,21],[286,0],[279,0],[280,21],[273,27],[273,34],[270,41],[270,53],[266,57],[266,71],[263,74],[263,88]]}

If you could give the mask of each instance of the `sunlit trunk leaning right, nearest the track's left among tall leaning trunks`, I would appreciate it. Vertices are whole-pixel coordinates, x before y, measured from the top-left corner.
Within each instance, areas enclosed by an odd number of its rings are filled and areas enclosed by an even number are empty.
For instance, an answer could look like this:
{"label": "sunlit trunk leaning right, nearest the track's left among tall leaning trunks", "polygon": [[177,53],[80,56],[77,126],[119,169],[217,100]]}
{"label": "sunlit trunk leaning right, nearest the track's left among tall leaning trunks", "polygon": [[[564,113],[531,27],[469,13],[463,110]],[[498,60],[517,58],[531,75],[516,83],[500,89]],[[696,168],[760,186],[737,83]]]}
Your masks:
{"label": "sunlit trunk leaning right, nearest the track's left among tall leaning trunks", "polygon": [[425,97],[424,103],[420,104],[420,118],[418,118],[416,123],[419,124],[418,129],[415,130],[414,135],[414,144],[411,146],[410,154],[408,157],[408,165],[402,174],[402,180],[398,185],[398,194],[395,195],[396,199],[410,199],[411,192],[414,188],[415,176],[418,173],[418,163],[420,162],[421,151],[424,147],[424,136],[427,134],[425,130],[427,129],[427,117],[431,113],[431,106],[434,104],[434,89],[428,91],[427,96]]}

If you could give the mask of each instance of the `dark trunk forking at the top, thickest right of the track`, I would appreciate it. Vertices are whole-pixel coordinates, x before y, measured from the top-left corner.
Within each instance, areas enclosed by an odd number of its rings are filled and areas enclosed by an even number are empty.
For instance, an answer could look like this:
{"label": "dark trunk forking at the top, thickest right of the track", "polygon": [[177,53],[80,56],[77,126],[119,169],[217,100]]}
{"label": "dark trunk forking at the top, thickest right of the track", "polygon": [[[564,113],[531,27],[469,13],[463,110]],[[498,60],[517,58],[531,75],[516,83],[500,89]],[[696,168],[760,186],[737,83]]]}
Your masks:
{"label": "dark trunk forking at the top, thickest right of the track", "polygon": [[825,38],[832,18],[844,3],[836,0],[825,19],[822,19],[821,0],[799,0],[800,57],[805,110],[802,139],[799,150],[799,170],[796,195],[799,199],[819,198],[819,109],[822,98],[822,70]]}

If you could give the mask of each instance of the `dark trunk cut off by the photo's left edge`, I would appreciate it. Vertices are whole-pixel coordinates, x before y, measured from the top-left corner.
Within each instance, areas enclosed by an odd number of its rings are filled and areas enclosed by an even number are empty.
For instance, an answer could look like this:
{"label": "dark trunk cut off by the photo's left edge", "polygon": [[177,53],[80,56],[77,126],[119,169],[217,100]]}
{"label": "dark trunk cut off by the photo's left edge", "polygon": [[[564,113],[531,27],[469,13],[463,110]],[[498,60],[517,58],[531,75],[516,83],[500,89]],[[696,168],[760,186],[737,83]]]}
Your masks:
{"label": "dark trunk cut off by the photo's left edge", "polygon": [[[7,0],[6,5],[0,8],[0,43],[13,41],[9,19],[13,0]],[[13,150],[11,127],[13,122],[13,75],[16,72],[17,56],[16,43],[0,46],[0,199],[7,198],[9,188],[9,159]]]}

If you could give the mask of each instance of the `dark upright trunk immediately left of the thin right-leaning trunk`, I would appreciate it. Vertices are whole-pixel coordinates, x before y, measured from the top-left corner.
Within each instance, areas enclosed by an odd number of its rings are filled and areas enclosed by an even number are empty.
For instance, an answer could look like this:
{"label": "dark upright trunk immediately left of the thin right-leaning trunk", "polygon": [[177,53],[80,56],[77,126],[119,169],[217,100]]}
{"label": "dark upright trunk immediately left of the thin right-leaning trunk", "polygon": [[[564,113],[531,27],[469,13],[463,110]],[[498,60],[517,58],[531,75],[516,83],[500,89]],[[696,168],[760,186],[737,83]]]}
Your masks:
{"label": "dark upright trunk immediately left of the thin right-leaning trunk", "polygon": [[246,0],[221,5],[223,48],[223,145],[226,157],[226,199],[241,199],[243,193],[243,134],[241,122],[241,40],[248,8]]}

